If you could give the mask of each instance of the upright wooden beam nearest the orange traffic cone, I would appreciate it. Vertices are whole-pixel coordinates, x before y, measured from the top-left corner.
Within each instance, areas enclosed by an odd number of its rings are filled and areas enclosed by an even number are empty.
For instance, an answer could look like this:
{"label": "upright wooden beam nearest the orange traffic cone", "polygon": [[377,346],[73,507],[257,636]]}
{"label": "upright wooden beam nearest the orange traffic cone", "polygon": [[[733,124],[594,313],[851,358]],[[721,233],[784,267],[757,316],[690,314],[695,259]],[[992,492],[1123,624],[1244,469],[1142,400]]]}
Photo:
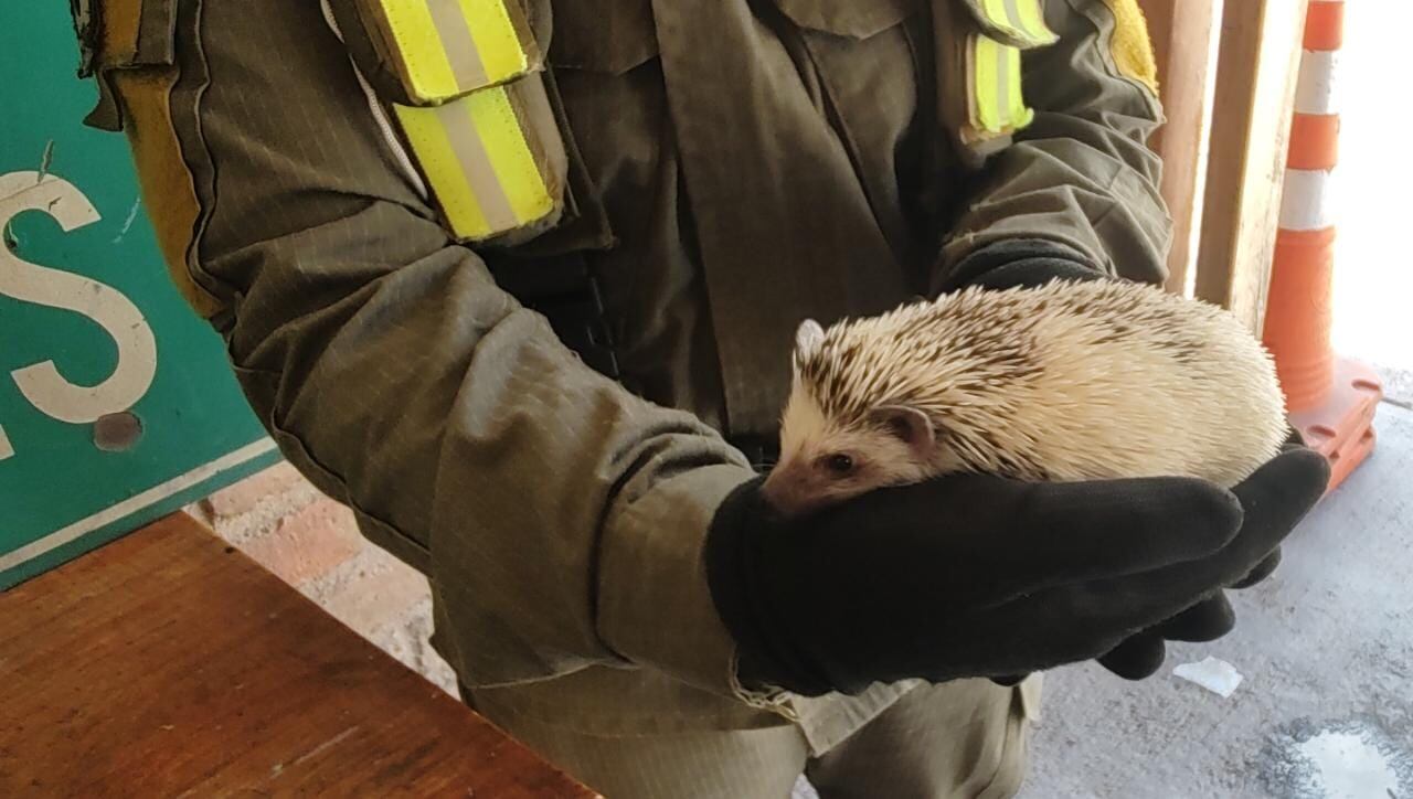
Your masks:
{"label": "upright wooden beam nearest the orange traffic cone", "polygon": [[1197,296],[1260,335],[1308,0],[1222,8]]}

